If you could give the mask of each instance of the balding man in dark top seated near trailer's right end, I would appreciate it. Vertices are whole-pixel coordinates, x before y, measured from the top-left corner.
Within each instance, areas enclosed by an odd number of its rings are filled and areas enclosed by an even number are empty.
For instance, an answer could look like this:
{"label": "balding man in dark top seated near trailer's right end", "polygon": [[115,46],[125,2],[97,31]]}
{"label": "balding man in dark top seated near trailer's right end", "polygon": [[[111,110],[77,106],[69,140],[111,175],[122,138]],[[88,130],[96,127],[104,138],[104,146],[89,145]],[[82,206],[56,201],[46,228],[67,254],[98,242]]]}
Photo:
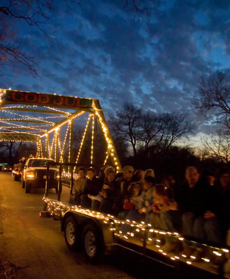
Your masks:
{"label": "balding man in dark top seated near trailer's right end", "polygon": [[[220,243],[220,232],[215,215],[213,212],[213,198],[211,188],[206,183],[201,183],[200,174],[196,167],[187,167],[185,170],[186,182],[180,187],[176,194],[178,209],[182,213],[182,234],[192,236],[201,241],[211,241]],[[185,241],[185,255],[194,252],[194,257],[201,256],[202,248],[187,247]]]}

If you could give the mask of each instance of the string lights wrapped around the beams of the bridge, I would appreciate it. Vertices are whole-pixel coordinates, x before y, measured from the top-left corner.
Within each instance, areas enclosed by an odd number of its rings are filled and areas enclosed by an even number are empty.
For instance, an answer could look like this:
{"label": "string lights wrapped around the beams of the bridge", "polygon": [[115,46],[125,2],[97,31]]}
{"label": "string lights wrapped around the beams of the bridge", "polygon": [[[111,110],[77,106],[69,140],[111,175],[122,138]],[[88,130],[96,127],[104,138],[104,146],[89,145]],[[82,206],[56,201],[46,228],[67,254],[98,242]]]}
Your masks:
{"label": "string lights wrapped around the beams of the bridge", "polygon": [[[0,100],[3,100],[3,96],[6,94],[6,90],[5,89],[0,89]],[[92,100],[92,99],[91,99]],[[7,103],[10,103],[7,102]],[[41,110],[41,109],[37,109],[37,107],[43,107],[43,109],[45,110]],[[10,111],[11,110],[11,111]],[[54,113],[54,114],[59,114],[59,115],[55,115],[55,116],[37,116],[37,117],[32,117],[29,116],[28,114],[20,114],[17,112],[12,112],[13,110],[27,110],[28,112],[36,112],[37,113]],[[68,161],[71,161],[71,139],[72,139],[72,129],[71,126],[73,125],[73,121],[74,119],[78,118],[79,116],[81,116],[82,114],[85,114],[85,112],[90,111],[91,113],[89,114],[89,117],[87,119],[87,124],[85,126],[85,131],[83,133],[82,136],[82,140],[80,142],[80,148],[78,150],[78,155],[76,158],[76,163],[78,163],[78,160],[80,158],[80,153],[82,151],[82,146],[85,142],[85,137],[87,134],[87,130],[89,128],[89,123],[92,123],[92,138],[91,138],[91,151],[90,151],[90,164],[92,165],[94,163],[94,134],[95,134],[95,121],[99,120],[99,124],[101,126],[101,129],[103,131],[103,135],[106,139],[106,144],[107,144],[107,149],[106,149],[106,158],[104,160],[104,165],[106,165],[106,162],[108,161],[108,157],[112,156],[113,158],[113,163],[117,169],[117,171],[119,171],[120,169],[120,161],[117,158],[117,153],[115,152],[115,147],[113,144],[113,140],[110,137],[110,133],[108,131],[108,127],[106,124],[106,120],[103,117],[103,113],[101,111],[101,109],[98,109],[95,105],[95,100],[92,100],[92,109],[76,109],[74,107],[70,107],[71,111],[75,111],[75,112],[67,112],[64,110],[58,110],[55,107],[50,107],[50,106],[45,106],[45,105],[13,105],[13,106],[8,106],[7,104],[5,104],[5,100],[3,103],[3,107],[0,107],[0,111],[3,112],[4,114],[9,114],[11,115],[11,117],[13,116],[17,116],[17,118],[2,118],[0,119],[1,123],[3,123],[0,126],[0,135],[2,136],[2,141],[4,140],[3,137],[5,135],[13,135],[13,133],[15,133],[15,135],[17,134],[18,136],[15,138],[13,138],[13,140],[15,141],[20,141],[19,137],[20,135],[22,135],[20,130],[23,129],[27,129],[28,131],[30,131],[29,133],[26,133],[27,135],[33,135],[34,137],[38,138],[37,139],[37,153],[38,156],[43,156],[43,155],[48,155],[49,158],[55,157],[55,160],[57,160],[59,158],[59,162],[63,162],[64,161],[64,151],[66,150],[66,144],[67,144],[67,140],[68,140],[68,135],[69,135],[69,159]],[[76,111],[77,110],[77,111]],[[13,116],[12,116],[13,115]],[[95,118],[96,117],[96,118]],[[49,121],[48,119],[63,119],[61,122],[59,123],[55,123],[54,121]],[[90,122],[92,119],[92,122]],[[43,125],[21,125],[21,124],[17,124],[17,123],[13,123],[13,122],[28,122],[28,123],[40,123]],[[59,129],[64,126],[66,123],[69,123],[67,129],[66,129],[66,134],[64,137],[64,143],[62,144],[61,141],[61,135],[59,132]],[[50,127],[51,126],[51,127]],[[49,128],[50,127],[50,128]],[[52,134],[52,132],[55,132]],[[41,134],[42,133],[42,134]],[[41,135],[39,135],[41,134]],[[49,135],[52,135],[52,140],[51,140],[51,145],[50,145],[50,137]],[[45,142],[43,142],[43,137],[45,138]],[[8,140],[9,137],[7,137]],[[34,138],[34,141],[36,141],[36,138]],[[25,139],[25,142],[27,142],[27,139]],[[28,138],[28,142],[32,142],[32,140],[30,140]],[[44,150],[43,150],[44,149]],[[45,152],[45,154],[44,154]],[[55,156],[53,156],[55,152]],[[75,170],[76,168],[74,168]]]}

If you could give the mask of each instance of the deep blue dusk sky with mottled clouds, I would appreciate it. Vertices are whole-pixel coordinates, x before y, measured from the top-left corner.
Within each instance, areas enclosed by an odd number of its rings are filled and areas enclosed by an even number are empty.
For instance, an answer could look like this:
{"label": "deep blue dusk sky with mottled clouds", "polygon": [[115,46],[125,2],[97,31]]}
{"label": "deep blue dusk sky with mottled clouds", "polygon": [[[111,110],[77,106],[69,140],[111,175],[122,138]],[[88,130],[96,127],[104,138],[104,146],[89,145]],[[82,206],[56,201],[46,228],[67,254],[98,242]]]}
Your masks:
{"label": "deep blue dusk sky with mottled clouds", "polygon": [[38,76],[11,64],[0,87],[99,98],[106,115],[124,102],[186,112],[196,133],[209,133],[191,100],[201,75],[229,68],[229,0],[164,1],[148,15],[124,2],[80,1],[55,13],[45,33],[17,20],[10,42],[34,57]]}

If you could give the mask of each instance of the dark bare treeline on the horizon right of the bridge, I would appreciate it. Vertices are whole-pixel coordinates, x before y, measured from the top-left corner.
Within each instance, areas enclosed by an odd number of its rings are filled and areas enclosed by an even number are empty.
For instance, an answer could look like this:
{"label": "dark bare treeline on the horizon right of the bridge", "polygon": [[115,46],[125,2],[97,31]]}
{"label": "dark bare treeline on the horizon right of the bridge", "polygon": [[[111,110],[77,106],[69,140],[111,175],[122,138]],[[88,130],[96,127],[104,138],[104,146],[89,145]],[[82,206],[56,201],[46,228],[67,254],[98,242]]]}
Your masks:
{"label": "dark bare treeline on the horizon right of the bridge", "polygon": [[224,163],[208,156],[201,156],[181,142],[192,134],[195,126],[180,112],[143,112],[132,104],[110,115],[110,131],[122,161],[136,168],[153,168],[159,181],[172,174],[178,181],[184,179],[185,168],[196,165],[200,172],[213,172]]}

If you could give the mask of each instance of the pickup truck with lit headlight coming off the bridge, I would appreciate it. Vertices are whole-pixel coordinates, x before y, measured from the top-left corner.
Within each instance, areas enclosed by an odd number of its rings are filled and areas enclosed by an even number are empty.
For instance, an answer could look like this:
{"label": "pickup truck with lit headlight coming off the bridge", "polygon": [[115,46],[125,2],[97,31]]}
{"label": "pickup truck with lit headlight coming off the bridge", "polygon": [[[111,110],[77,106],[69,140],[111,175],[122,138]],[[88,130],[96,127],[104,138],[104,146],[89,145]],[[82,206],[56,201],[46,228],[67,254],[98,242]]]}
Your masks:
{"label": "pickup truck with lit headlight coming off the bridge", "polygon": [[48,163],[55,160],[50,158],[29,158],[24,165],[22,172],[22,188],[25,193],[31,193],[32,189],[45,188],[48,176],[48,188],[55,188],[57,191],[57,181],[59,179],[59,169],[57,165],[51,165],[47,172]]}

